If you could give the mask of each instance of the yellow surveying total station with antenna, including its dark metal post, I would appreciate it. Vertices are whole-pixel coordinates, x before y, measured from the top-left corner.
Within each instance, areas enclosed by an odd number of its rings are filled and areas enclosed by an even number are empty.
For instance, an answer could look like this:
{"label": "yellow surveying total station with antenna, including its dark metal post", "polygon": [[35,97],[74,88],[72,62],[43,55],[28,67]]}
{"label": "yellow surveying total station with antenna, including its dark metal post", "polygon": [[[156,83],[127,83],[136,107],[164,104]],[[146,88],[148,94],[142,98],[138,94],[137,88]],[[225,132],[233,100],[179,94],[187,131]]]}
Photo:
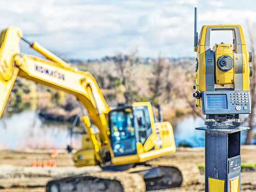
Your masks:
{"label": "yellow surveying total station with antenna, including its dark metal post", "polygon": [[[210,48],[211,31],[231,31],[232,45],[216,44]],[[247,52],[240,25],[205,25],[198,36],[195,8],[194,51],[196,59],[196,106],[207,121],[205,131],[205,191],[240,192],[241,114],[251,111],[249,77],[252,54]],[[232,121],[226,123],[226,121]]]}

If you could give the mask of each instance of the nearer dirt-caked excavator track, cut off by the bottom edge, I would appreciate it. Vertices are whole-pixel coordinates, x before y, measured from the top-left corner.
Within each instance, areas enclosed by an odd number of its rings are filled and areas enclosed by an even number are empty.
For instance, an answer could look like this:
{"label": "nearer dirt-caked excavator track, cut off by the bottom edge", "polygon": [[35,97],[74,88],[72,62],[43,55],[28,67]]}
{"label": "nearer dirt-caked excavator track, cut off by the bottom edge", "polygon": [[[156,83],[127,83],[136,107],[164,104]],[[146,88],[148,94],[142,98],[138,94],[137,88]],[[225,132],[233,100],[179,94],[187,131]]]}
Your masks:
{"label": "nearer dirt-caked excavator track, cut off by the bottom edge", "polygon": [[47,183],[47,192],[144,192],[145,182],[138,174],[96,172],[55,179]]}

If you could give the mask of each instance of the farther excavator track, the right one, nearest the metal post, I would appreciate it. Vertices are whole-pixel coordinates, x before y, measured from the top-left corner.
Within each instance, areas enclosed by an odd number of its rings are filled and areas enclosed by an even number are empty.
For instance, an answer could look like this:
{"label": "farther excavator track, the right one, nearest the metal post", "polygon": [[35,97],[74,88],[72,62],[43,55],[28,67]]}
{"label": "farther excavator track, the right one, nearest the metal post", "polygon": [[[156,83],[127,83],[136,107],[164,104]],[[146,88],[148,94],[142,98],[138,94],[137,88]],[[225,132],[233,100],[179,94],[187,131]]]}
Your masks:
{"label": "farther excavator track, the right one, nearest the metal post", "polygon": [[144,178],[146,190],[160,190],[198,183],[200,173],[196,164],[181,161],[161,161],[161,159],[146,162],[147,166],[156,168],[158,176]]}

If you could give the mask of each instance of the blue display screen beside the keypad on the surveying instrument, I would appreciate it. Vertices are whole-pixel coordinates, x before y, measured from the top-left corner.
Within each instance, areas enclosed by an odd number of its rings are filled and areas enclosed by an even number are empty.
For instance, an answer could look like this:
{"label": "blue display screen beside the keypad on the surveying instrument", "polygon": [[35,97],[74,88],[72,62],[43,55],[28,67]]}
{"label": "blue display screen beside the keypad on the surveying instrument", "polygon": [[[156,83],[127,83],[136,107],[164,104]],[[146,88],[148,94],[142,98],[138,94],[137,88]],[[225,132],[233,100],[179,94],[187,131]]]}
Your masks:
{"label": "blue display screen beside the keypad on the surveying instrument", "polygon": [[207,109],[227,109],[227,97],[225,94],[206,95]]}

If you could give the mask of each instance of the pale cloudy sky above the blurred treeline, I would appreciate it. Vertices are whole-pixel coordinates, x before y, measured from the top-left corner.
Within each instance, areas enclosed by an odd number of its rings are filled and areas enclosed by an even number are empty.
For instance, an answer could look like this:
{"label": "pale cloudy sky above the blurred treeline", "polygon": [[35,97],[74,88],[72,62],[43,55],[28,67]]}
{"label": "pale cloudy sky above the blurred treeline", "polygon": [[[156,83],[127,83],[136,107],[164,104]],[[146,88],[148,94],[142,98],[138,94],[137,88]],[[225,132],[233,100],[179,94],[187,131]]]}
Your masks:
{"label": "pale cloudy sky above the blurred treeline", "polygon": [[144,58],[159,53],[195,57],[194,7],[199,31],[203,25],[239,24],[247,35],[246,19],[256,23],[253,0],[8,0],[0,2],[0,29],[17,26],[65,59],[95,59],[135,49]]}

